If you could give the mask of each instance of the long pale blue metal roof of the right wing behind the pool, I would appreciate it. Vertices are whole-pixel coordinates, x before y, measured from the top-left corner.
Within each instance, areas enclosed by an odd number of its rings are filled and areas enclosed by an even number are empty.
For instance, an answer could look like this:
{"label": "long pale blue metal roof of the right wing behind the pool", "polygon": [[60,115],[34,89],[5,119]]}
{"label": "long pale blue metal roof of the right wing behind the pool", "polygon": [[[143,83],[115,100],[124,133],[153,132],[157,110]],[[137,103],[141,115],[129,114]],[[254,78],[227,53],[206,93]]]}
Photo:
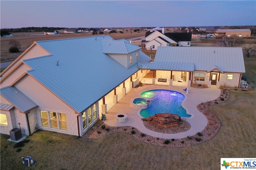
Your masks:
{"label": "long pale blue metal roof of the right wing behind the pool", "polygon": [[240,47],[158,47],[154,63],[138,63],[138,68],[245,72]]}

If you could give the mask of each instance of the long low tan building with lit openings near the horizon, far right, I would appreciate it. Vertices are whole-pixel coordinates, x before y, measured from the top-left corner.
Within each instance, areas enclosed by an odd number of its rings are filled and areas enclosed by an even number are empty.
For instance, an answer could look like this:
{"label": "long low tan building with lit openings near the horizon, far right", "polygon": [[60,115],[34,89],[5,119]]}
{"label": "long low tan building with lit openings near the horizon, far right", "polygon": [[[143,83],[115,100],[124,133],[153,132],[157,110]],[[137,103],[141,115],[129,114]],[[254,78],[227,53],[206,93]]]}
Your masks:
{"label": "long low tan building with lit openings near the horizon, far right", "polygon": [[216,32],[216,37],[236,35],[238,37],[251,37],[250,29],[218,29]]}

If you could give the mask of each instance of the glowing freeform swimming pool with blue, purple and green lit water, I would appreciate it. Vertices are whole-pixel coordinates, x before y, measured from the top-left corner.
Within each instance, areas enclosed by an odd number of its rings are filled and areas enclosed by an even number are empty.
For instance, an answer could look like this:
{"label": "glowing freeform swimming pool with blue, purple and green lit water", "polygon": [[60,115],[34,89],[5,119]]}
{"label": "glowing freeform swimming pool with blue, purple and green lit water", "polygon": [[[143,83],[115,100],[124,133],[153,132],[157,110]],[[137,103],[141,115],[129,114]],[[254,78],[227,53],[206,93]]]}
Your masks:
{"label": "glowing freeform swimming pool with blue, purple and green lit water", "polygon": [[150,100],[150,107],[140,111],[142,117],[149,117],[156,113],[178,114],[179,117],[191,117],[181,106],[185,99],[184,94],[173,90],[148,90],[140,94],[143,98]]}

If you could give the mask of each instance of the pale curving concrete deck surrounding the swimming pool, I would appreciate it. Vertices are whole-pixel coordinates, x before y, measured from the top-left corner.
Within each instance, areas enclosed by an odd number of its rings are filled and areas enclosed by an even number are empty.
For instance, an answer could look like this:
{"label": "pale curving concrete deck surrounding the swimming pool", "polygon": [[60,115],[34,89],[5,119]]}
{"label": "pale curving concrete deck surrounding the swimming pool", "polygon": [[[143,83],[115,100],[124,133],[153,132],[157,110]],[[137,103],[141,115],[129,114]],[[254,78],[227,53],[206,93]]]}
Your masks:
{"label": "pale curving concrete deck surrounding the swimming pool", "polygon": [[[146,135],[150,135],[152,137],[158,137],[163,139],[181,139],[187,136],[193,136],[196,133],[204,130],[204,128],[208,124],[207,118],[197,109],[197,105],[202,102],[208,102],[215,100],[220,96],[220,89],[216,88],[216,86],[212,86],[211,88],[192,88],[189,87],[188,94],[183,90],[188,87],[184,86],[165,86],[165,85],[147,85],[141,86],[139,88],[132,88],[118,103],[116,103],[107,113],[106,120],[104,123],[106,125],[110,125],[113,127],[122,127],[122,126],[131,126],[138,129],[141,133],[145,133]],[[191,117],[186,117],[185,119],[188,123],[190,123],[191,128],[188,131],[182,133],[158,133],[155,131],[151,131],[144,126],[143,121],[141,120],[140,110],[134,109],[130,107],[130,100],[132,98],[140,97],[140,94],[147,90],[154,89],[166,89],[166,90],[174,90],[178,91],[185,95],[185,99],[182,102],[182,107],[186,109],[187,114],[192,115]],[[126,114],[127,121],[125,122],[117,122],[115,119],[116,114]]]}

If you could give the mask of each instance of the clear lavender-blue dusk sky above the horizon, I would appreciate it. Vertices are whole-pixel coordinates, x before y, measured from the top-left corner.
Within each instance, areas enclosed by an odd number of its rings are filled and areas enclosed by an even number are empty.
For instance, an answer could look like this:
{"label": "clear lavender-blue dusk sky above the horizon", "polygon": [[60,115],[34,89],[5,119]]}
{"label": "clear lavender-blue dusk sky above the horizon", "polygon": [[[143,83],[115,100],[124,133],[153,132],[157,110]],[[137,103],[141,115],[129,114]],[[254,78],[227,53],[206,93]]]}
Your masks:
{"label": "clear lavender-blue dusk sky above the horizon", "polygon": [[256,25],[256,0],[1,0],[0,27]]}

